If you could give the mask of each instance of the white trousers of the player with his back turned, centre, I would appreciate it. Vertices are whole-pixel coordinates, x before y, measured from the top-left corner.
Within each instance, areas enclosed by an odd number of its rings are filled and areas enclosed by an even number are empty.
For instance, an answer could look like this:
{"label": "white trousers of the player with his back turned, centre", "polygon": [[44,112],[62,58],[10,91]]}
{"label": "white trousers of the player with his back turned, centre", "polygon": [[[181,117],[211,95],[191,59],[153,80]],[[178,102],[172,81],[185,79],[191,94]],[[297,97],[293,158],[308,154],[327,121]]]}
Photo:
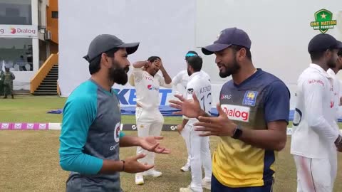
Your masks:
{"label": "white trousers of the player with his back turned, centre", "polygon": [[204,180],[212,179],[212,158],[209,149],[209,137],[199,137],[195,131],[195,126],[187,124],[190,130],[190,166],[191,166],[191,184],[193,191],[202,192],[202,165],[204,168]]}

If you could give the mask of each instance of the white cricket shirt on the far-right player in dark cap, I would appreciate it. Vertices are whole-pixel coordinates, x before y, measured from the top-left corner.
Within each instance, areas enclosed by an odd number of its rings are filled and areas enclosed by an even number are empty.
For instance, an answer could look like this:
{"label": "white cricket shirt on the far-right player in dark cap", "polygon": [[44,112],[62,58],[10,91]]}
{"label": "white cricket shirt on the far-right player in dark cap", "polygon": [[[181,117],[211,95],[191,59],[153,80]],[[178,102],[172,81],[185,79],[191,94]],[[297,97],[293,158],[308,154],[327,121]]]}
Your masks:
{"label": "white cricket shirt on the far-right player in dark cap", "polygon": [[334,122],[336,107],[333,79],[323,68],[310,64],[299,76],[296,90],[291,154],[329,159],[339,131]]}

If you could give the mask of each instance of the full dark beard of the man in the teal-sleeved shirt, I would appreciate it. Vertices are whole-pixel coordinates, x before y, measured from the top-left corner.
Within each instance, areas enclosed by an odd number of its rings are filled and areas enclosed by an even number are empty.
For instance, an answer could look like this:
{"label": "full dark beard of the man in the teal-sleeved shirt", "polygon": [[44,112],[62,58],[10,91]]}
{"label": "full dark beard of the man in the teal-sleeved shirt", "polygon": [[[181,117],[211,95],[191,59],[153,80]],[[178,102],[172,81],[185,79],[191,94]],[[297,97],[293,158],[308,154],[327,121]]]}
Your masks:
{"label": "full dark beard of the man in the teal-sleeved shirt", "polygon": [[130,70],[128,65],[121,68],[120,64],[114,60],[112,67],[108,71],[108,77],[114,83],[125,85],[128,82],[128,70]]}

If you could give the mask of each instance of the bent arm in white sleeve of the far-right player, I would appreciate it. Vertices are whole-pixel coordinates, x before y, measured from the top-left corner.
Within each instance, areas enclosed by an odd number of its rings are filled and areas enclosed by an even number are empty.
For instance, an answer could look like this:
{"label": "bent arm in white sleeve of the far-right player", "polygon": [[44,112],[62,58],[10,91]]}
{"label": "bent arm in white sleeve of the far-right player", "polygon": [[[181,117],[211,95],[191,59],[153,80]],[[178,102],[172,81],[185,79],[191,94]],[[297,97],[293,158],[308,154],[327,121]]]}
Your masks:
{"label": "bent arm in white sleeve of the far-right player", "polygon": [[[309,127],[317,132],[321,137],[326,138],[328,142],[336,142],[339,132],[331,127],[323,117],[323,93],[326,91],[320,76],[311,77],[315,82],[306,81],[303,83],[305,112]],[[337,104],[336,104],[337,105]]]}

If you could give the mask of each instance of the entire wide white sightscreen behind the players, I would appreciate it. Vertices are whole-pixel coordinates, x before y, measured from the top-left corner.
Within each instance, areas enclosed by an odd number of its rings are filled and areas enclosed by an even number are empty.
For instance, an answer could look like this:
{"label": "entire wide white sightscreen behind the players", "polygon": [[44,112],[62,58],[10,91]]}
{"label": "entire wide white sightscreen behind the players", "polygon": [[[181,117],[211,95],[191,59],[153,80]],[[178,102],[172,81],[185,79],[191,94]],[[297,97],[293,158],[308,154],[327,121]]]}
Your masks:
{"label": "entire wide white sightscreen behind the players", "polygon": [[[77,7],[77,11],[76,8]],[[333,12],[338,26],[327,33],[342,40],[342,1],[305,0],[190,0],[190,1],[59,1],[59,85],[63,96],[90,75],[86,55],[90,41],[100,33],[111,33],[125,42],[140,42],[130,55],[131,63],[159,55],[173,77],[185,69],[187,50],[212,43],[223,28],[237,26],[252,40],[252,59],[257,68],[281,78],[291,90],[294,105],[296,80],[310,63],[307,45],[316,34],[310,26],[319,9]],[[340,12],[338,12],[340,11]],[[213,105],[226,80],[219,78],[214,56],[204,56],[203,70],[213,83]],[[134,105],[133,87],[117,86],[123,105]],[[172,95],[162,90],[161,104]],[[162,95],[164,94],[164,95]]]}

